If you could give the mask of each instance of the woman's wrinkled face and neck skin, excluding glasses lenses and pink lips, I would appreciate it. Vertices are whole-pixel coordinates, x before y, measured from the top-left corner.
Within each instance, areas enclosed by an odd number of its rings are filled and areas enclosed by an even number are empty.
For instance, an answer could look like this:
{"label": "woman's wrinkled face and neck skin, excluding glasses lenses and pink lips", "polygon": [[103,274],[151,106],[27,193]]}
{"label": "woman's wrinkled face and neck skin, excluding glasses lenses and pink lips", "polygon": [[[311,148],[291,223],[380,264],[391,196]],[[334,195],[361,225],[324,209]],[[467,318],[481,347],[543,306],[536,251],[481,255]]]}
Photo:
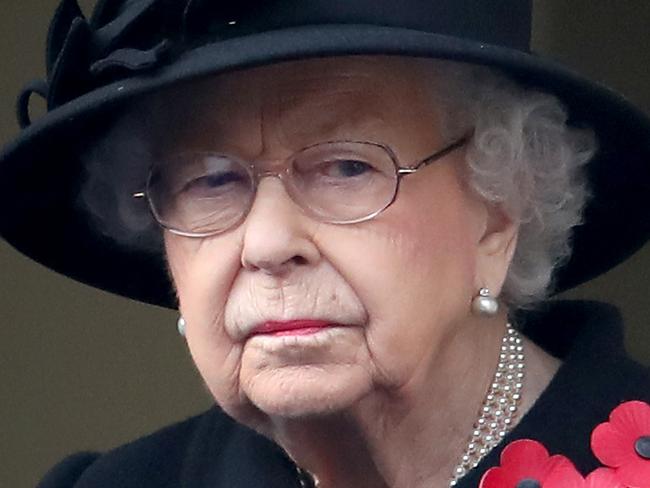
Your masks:
{"label": "woman's wrinkled face and neck skin, excluding glasses lenses and pink lips", "polygon": [[[221,75],[182,88],[200,103],[170,139],[269,166],[316,142],[376,141],[406,166],[449,142],[439,79],[381,57]],[[471,429],[505,318],[473,317],[470,302],[480,287],[500,290],[517,229],[470,191],[464,171],[459,150],[405,177],[391,207],[353,225],[317,222],[267,177],[235,229],[166,234],[188,345],[211,394],[323,486],[443,486]],[[309,339],[248,335],[295,318],[345,327]],[[435,472],[415,474],[418,464]]]}

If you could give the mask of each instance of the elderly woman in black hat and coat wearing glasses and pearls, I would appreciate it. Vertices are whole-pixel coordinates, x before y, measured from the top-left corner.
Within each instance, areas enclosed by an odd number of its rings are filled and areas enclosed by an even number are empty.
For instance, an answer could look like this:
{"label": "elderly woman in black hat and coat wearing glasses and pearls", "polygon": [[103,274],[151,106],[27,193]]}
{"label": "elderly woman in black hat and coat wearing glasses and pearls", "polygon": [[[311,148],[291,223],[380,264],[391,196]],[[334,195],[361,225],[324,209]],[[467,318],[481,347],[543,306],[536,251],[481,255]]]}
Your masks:
{"label": "elderly woman in black hat and coat wearing glasses and pearls", "polygon": [[2,234],[178,307],[216,406],[41,486],[546,486],[539,449],[578,486],[650,380],[612,310],[541,301],[647,240],[650,122],[529,26],[521,0],[64,1]]}

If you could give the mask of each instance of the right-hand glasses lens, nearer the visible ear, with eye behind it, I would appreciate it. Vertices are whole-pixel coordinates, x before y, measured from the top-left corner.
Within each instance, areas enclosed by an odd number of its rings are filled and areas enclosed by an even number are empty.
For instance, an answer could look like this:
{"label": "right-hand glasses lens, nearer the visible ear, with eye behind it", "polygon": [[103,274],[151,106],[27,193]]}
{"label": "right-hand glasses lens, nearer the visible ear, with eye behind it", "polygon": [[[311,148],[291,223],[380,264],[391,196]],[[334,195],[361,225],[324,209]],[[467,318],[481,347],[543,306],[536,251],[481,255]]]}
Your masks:
{"label": "right-hand glasses lens, nearer the visible ear, with eye behind it", "polygon": [[311,146],[294,159],[292,185],[300,204],[329,222],[363,220],[395,196],[395,163],[382,146],[334,142]]}

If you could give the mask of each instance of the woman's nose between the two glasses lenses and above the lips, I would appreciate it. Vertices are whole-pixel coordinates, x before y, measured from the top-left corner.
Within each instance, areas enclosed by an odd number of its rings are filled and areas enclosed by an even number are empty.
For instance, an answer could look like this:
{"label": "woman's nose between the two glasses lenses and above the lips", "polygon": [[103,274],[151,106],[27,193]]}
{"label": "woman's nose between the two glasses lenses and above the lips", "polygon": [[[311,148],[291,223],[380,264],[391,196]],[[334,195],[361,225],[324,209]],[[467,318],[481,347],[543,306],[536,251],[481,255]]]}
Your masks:
{"label": "woman's nose between the two glasses lenses and above the lips", "polygon": [[245,269],[282,275],[320,259],[312,240],[318,224],[298,208],[277,177],[260,180],[253,207],[242,225]]}

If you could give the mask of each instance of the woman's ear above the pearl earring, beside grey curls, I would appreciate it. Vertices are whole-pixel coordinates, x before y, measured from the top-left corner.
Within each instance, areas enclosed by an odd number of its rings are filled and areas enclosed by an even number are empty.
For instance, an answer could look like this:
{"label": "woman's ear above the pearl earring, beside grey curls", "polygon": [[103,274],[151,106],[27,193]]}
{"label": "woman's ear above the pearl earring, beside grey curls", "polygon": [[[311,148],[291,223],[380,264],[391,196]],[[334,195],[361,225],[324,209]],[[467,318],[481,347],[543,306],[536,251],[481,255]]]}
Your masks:
{"label": "woman's ear above the pearl earring, beside grey curls", "polygon": [[499,205],[485,204],[485,225],[477,246],[476,289],[501,293],[517,247],[519,224]]}

